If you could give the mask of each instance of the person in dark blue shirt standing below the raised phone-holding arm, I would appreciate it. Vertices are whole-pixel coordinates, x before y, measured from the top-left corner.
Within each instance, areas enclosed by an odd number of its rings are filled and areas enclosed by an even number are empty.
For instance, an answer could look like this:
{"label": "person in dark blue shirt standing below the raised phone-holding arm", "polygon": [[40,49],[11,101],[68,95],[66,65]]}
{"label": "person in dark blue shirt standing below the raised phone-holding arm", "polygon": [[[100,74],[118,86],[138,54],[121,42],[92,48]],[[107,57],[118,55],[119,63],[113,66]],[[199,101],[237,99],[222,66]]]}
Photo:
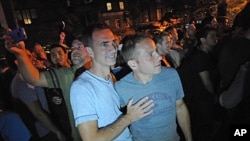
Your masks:
{"label": "person in dark blue shirt standing below the raised phone-holding arm", "polygon": [[[33,57],[30,51],[26,50],[26,53],[29,56],[30,61],[32,62]],[[13,63],[11,66],[13,68],[17,68],[16,66],[14,66],[18,65],[16,60],[14,60],[15,56],[12,55],[12,57],[8,56],[8,59],[13,59]],[[50,117],[48,103],[43,88],[28,84],[26,81],[24,81],[23,76],[19,73],[18,70],[16,76],[12,80],[10,88],[13,98],[15,99],[14,104],[16,106],[16,109],[18,110],[18,113],[22,118],[27,119],[27,117],[29,117],[28,120],[30,119],[31,121],[26,120],[25,122],[34,124],[31,126],[35,127],[38,140],[66,141],[65,136],[61,131],[58,130]],[[29,113],[29,115],[23,113],[23,109],[21,109],[21,106],[23,106],[24,109],[27,108],[26,111],[27,113]],[[35,131],[33,131],[33,129],[31,128],[30,131],[32,131],[32,135],[35,136]]]}

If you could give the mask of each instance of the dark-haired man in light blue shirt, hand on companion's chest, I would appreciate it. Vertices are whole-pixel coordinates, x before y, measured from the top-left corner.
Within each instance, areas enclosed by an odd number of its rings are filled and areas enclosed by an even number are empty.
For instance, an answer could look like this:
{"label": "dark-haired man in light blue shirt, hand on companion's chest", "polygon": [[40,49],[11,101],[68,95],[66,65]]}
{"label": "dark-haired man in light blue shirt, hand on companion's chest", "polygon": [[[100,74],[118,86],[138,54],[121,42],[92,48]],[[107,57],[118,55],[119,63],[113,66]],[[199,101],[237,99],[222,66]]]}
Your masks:
{"label": "dark-haired man in light blue shirt, hand on companion's chest", "polygon": [[75,126],[84,141],[131,141],[127,127],[152,113],[152,100],[145,97],[132,105],[131,99],[127,112],[122,114],[110,76],[117,53],[113,32],[104,24],[92,24],[83,33],[83,39],[92,66],[78,76],[70,88]]}

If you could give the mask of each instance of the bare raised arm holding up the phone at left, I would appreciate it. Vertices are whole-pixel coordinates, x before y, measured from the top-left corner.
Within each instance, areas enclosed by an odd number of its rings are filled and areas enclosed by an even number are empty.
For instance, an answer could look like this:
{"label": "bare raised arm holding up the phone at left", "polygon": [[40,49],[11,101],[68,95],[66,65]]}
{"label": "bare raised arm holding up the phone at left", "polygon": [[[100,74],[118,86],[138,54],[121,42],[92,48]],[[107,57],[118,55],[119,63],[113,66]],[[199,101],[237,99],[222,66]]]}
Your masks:
{"label": "bare raised arm holding up the phone at left", "polygon": [[32,64],[25,50],[25,43],[20,41],[14,43],[14,40],[9,35],[4,35],[5,48],[15,54],[18,61],[18,69],[24,79],[35,86],[47,87],[48,83],[45,75]]}

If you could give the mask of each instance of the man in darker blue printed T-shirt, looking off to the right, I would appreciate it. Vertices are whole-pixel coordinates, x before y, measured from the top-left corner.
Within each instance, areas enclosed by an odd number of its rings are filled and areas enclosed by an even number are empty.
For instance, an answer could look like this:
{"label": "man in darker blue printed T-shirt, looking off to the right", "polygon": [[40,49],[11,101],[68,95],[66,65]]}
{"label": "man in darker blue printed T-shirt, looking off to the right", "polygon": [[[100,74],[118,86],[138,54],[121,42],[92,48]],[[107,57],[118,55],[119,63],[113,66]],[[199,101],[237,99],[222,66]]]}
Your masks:
{"label": "man in darker blue printed T-shirt, looking off to the right", "polygon": [[137,101],[143,97],[149,97],[155,104],[151,115],[131,123],[133,140],[178,141],[177,119],[186,141],[192,141],[189,113],[178,73],[173,68],[161,66],[162,56],[157,53],[152,38],[142,34],[128,38],[121,54],[133,72],[116,82],[115,89],[122,104],[131,98]]}

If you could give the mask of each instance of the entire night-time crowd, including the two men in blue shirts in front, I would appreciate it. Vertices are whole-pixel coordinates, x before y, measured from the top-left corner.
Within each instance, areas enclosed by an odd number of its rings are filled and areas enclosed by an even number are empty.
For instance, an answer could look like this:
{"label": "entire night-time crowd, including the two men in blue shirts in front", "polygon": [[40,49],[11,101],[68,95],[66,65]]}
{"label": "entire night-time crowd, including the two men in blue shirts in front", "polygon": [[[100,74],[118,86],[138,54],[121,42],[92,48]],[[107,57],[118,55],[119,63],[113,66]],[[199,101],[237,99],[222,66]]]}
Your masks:
{"label": "entire night-time crowd, including the two men in blue shirts in front", "polygon": [[117,41],[95,23],[70,47],[61,33],[49,56],[6,34],[0,140],[229,140],[250,124],[249,22],[248,3],[226,30],[207,16],[182,36],[169,26]]}

